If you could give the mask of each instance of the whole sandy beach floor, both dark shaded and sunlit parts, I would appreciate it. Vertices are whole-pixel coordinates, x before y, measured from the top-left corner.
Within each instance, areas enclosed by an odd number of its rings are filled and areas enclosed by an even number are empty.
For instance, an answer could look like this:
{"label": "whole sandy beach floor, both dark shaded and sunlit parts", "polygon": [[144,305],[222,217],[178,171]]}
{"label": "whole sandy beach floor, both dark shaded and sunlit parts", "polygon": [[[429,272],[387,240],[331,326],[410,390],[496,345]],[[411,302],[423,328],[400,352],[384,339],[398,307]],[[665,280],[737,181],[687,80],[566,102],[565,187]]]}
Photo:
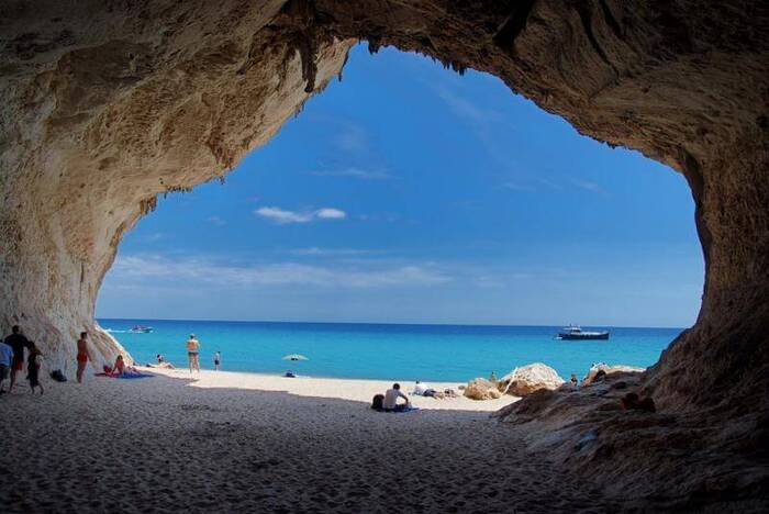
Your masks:
{"label": "whole sandy beach floor, both dark shaded and sunlit parts", "polygon": [[[389,382],[183,370],[0,396],[4,512],[598,512],[588,482],[488,412]],[[409,390],[413,382],[404,382]],[[456,383],[433,386],[443,388]]]}

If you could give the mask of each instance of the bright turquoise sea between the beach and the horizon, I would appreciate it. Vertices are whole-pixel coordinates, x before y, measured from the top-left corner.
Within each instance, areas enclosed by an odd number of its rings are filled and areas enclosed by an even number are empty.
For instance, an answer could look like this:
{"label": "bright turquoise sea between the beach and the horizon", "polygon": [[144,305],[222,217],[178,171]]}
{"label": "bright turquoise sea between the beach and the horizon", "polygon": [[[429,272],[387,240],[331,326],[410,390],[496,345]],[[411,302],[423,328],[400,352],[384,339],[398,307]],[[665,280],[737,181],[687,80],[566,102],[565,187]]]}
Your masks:
{"label": "bright turquoise sea between the beach and the horizon", "polygon": [[[568,379],[584,376],[593,362],[647,367],[680,328],[589,327],[609,329],[609,340],[558,340],[557,326],[397,325],[352,323],[271,323],[168,320],[99,320],[140,362],[163,354],[187,366],[185,342],[196,334],[200,364],[222,369],[312,377],[467,381],[503,376],[517,366],[544,362]],[[135,325],[152,333],[129,332]],[[588,327],[583,327],[588,329]],[[287,361],[289,354],[307,361]]]}

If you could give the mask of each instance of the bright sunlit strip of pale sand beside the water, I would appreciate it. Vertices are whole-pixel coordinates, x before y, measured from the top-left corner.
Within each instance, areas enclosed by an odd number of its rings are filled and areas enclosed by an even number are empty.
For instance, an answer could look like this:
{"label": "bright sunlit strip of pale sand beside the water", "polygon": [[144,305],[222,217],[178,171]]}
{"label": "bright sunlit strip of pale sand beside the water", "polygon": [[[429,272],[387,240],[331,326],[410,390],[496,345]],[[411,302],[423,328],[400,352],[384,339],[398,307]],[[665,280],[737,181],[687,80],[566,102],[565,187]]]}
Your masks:
{"label": "bright sunlit strip of pale sand beside the water", "polygon": [[200,373],[190,375],[188,368],[163,369],[137,366],[143,372],[149,372],[161,377],[189,380],[187,386],[200,389],[241,389],[244,391],[285,392],[296,396],[347,400],[354,402],[371,403],[375,394],[383,394],[394,382],[401,384],[401,390],[409,396],[413,405],[420,410],[441,411],[476,411],[493,412],[519,400],[517,396],[504,395],[498,400],[470,400],[462,396],[458,389],[462,382],[428,382],[438,391],[454,389],[459,398],[446,398],[438,400],[412,395],[413,380],[371,380],[371,379],[341,379],[298,376],[286,378],[280,375],[255,373],[245,371],[214,371],[203,369]]}

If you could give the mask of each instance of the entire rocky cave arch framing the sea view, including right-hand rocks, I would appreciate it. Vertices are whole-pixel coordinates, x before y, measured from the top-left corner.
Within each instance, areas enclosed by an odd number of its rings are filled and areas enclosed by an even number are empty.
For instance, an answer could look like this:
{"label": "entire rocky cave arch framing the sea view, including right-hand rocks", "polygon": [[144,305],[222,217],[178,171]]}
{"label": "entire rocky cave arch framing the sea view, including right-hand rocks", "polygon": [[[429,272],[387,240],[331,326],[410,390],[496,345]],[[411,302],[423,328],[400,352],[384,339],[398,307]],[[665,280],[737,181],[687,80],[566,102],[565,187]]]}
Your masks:
{"label": "entire rocky cave arch framing the sea view, including right-hand rocks", "polygon": [[[554,393],[502,418],[540,424],[550,436],[532,445],[617,498],[766,507],[767,5],[11,0],[1,10],[0,321],[44,340],[54,365],[74,361],[81,329],[104,359],[122,351],[93,320],[96,298],[121,237],[158,195],[223,177],[342,77],[356,42],[390,45],[499,77],[581,134],[682,174],[695,202],[699,317],[623,384],[657,414],[602,414],[605,396]],[[597,440],[588,450],[584,434]]]}

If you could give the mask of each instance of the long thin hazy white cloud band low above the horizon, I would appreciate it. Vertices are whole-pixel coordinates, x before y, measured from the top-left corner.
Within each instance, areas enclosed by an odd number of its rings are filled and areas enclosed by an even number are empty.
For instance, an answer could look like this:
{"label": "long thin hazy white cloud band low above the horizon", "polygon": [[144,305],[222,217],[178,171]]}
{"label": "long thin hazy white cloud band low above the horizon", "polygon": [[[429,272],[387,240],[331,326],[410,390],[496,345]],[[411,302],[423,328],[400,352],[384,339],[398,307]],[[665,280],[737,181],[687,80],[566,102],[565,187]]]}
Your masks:
{"label": "long thin hazy white cloud band low above the horizon", "polygon": [[[113,286],[172,280],[186,287],[248,288],[304,286],[319,288],[426,287],[450,282],[435,266],[370,264],[366,267],[313,266],[299,262],[220,264],[204,258],[170,259],[158,255],[121,256],[111,271]],[[123,282],[125,281],[125,282]]]}

